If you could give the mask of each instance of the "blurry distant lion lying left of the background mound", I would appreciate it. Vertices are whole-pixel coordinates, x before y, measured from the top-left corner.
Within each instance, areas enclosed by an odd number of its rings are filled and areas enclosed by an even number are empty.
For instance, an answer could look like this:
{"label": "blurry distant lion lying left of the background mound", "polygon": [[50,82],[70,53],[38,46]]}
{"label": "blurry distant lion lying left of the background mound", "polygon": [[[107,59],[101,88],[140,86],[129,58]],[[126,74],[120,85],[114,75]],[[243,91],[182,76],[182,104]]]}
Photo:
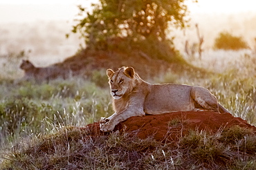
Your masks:
{"label": "blurry distant lion lying left of the background mound", "polygon": [[37,81],[55,79],[57,77],[65,78],[65,73],[61,68],[56,66],[49,67],[35,67],[30,61],[22,60],[21,65],[19,66],[25,72],[24,79],[35,79]]}

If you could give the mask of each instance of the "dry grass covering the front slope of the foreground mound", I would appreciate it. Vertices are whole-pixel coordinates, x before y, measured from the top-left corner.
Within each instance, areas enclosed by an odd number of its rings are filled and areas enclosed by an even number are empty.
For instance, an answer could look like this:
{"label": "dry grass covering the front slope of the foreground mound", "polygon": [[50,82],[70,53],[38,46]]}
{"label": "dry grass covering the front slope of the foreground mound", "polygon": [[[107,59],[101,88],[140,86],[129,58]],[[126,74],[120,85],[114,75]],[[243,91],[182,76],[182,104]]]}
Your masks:
{"label": "dry grass covering the front slope of the foreground mound", "polygon": [[247,129],[235,126],[216,134],[190,131],[179,138],[178,144],[163,144],[119,132],[92,137],[86,129],[66,126],[14,145],[1,168],[251,169],[256,165],[255,136],[247,134],[235,142],[225,140],[234,131],[239,134]]}

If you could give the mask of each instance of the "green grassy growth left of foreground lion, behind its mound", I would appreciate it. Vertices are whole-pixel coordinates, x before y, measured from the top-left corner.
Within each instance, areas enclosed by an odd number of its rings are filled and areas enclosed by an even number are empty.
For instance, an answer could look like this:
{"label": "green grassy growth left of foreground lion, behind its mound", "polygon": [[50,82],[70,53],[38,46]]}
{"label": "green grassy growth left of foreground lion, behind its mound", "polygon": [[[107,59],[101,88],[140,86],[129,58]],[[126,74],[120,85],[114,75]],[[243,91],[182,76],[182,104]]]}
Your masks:
{"label": "green grassy growth left of foreground lion, behind its mound", "polygon": [[56,126],[85,126],[113,112],[109,90],[84,79],[57,79],[48,84],[2,79],[0,86],[0,146]]}

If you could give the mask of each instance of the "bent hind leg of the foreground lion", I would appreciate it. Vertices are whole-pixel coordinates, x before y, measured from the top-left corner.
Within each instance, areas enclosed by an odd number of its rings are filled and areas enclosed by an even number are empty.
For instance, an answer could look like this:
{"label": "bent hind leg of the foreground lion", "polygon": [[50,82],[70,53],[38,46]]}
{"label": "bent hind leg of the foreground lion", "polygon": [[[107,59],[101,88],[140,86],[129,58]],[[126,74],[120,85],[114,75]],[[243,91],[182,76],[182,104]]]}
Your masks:
{"label": "bent hind leg of the foreground lion", "polygon": [[194,111],[219,112],[217,98],[208,89],[194,86],[191,90],[191,97],[196,102]]}

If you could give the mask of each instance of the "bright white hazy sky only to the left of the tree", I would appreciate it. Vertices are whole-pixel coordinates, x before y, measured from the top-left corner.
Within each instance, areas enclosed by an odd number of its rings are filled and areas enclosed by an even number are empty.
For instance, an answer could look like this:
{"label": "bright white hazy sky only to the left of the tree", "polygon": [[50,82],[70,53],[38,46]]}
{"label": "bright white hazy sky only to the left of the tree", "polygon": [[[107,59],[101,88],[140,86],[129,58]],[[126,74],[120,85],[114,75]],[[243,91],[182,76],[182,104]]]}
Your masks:
{"label": "bright white hazy sky only to the left of the tree", "polygon": [[0,23],[39,20],[73,21],[78,4],[93,0],[0,0]]}

